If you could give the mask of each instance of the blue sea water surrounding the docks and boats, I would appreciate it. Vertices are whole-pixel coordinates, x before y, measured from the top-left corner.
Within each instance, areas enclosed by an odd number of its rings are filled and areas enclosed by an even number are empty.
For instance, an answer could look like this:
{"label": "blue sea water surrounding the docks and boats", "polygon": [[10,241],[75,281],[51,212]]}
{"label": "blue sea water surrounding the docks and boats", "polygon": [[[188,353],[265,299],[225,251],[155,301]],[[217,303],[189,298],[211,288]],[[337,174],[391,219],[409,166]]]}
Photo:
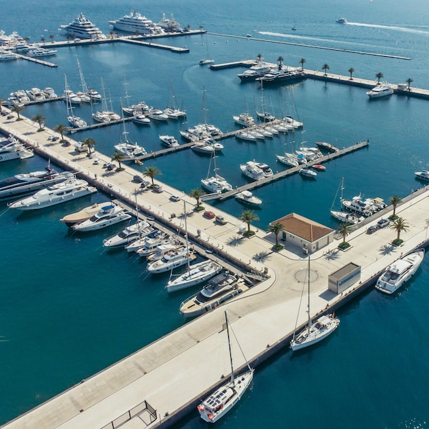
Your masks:
{"label": "blue sea water surrounding the docks and boats", "polygon": [[[203,25],[209,33],[245,36],[252,34],[271,42],[243,38],[184,36],[171,38],[171,45],[187,45],[188,54],[116,44],[99,47],[58,49],[57,69],[23,61],[0,63],[0,97],[20,88],[52,86],[58,93],[69,86],[78,90],[80,80],[76,56],[86,82],[108,88],[114,110],[119,111],[125,96],[130,102],[144,99],[150,106],[164,108],[172,102],[184,106],[188,123],[152,124],[138,127],[127,123],[128,138],[148,151],[160,149],[158,134],[179,135],[179,130],[204,120],[223,131],[235,129],[232,115],[260,107],[258,85],[241,84],[239,69],[211,71],[199,66],[207,51],[217,63],[243,58],[275,62],[331,73],[376,79],[378,72],[391,83],[405,82],[429,88],[429,11],[426,2],[410,0],[267,1],[216,3],[201,1],[147,1],[127,5],[115,1],[73,3],[58,1],[54,8],[40,1],[0,1],[0,28],[6,34],[16,30],[36,42],[53,34],[60,40],[60,24],[69,23],[83,12],[103,32],[110,32],[108,19],[117,19],[138,10],[157,21],[173,12],[183,26]],[[204,7],[201,7],[204,5]],[[335,19],[345,16],[350,24]],[[291,27],[297,28],[296,32]],[[259,34],[254,33],[257,29]],[[366,56],[275,42],[293,42],[382,53],[396,58]],[[48,43],[49,44],[49,43]],[[203,93],[205,91],[205,97]],[[405,196],[421,186],[413,171],[428,167],[428,102],[393,96],[369,102],[365,90],[305,82],[265,88],[265,106],[278,116],[292,113],[304,121],[304,132],[273,138],[265,143],[225,140],[218,158],[220,173],[235,186],[245,183],[238,165],[247,160],[267,162],[275,170],[275,154],[303,141],[317,140],[339,147],[369,140],[368,149],[328,164],[315,182],[297,175],[259,188],[263,199],[255,224],[267,228],[273,219],[289,212],[310,217],[335,228],[329,209],[336,191],[345,180],[345,197],[358,193],[388,200]],[[205,103],[203,101],[205,99]],[[246,107],[247,106],[247,107]],[[90,119],[90,107],[77,108]],[[24,114],[40,113],[46,124],[64,123],[62,102],[32,106]],[[97,150],[110,155],[120,138],[119,127],[85,134],[97,141]],[[24,162],[0,164],[0,177],[43,169],[45,160],[35,157]],[[160,179],[189,192],[208,171],[208,159],[191,151],[157,158]],[[145,163],[145,165],[149,164]],[[178,168],[177,166],[181,166]],[[145,167],[145,166],[144,166]],[[144,167],[141,167],[142,169]],[[111,365],[181,326],[180,302],[193,291],[167,294],[163,286],[168,275],[153,278],[145,273],[145,262],[125,252],[106,252],[103,238],[121,226],[103,232],[76,236],[58,219],[107,195],[71,201],[37,213],[17,215],[0,208],[2,281],[0,282],[0,424],[48,400],[73,384]],[[215,204],[220,210],[240,215],[243,206],[228,200]],[[424,219],[422,219],[422,223]],[[312,350],[292,355],[284,350],[255,373],[252,391],[218,426],[256,428],[427,428],[429,332],[426,288],[429,262],[393,297],[369,291],[339,312],[341,327],[328,341]],[[191,363],[190,363],[191,364]],[[144,400],[145,398],[141,398]],[[202,425],[197,413],[177,427]]]}

